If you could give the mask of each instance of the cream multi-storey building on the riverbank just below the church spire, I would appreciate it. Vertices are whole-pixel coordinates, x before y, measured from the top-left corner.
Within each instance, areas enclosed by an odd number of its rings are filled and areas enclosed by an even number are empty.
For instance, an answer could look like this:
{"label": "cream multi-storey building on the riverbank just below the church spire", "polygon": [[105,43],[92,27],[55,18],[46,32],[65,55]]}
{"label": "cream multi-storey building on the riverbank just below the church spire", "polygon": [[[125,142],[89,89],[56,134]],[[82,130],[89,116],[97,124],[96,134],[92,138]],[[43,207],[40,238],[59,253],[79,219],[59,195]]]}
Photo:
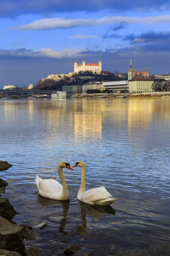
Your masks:
{"label": "cream multi-storey building on the riverbank just below the church spire", "polygon": [[153,80],[149,78],[133,77],[129,80],[129,93],[147,93],[153,92]]}

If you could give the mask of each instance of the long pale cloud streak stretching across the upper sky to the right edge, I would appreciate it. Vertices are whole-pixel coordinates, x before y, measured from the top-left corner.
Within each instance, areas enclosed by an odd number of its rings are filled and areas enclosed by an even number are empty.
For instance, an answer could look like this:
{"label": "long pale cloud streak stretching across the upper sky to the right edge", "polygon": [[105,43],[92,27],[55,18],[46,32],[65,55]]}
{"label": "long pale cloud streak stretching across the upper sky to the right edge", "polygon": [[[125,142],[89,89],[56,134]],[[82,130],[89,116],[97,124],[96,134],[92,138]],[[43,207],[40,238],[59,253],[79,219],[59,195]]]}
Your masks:
{"label": "long pale cloud streak stretching across the upper sky to the right edge", "polygon": [[170,23],[170,15],[161,15],[153,17],[103,17],[100,19],[67,19],[67,18],[48,18],[36,20],[23,26],[13,27],[16,30],[36,30],[36,29],[68,29],[77,27],[99,26],[113,23]]}

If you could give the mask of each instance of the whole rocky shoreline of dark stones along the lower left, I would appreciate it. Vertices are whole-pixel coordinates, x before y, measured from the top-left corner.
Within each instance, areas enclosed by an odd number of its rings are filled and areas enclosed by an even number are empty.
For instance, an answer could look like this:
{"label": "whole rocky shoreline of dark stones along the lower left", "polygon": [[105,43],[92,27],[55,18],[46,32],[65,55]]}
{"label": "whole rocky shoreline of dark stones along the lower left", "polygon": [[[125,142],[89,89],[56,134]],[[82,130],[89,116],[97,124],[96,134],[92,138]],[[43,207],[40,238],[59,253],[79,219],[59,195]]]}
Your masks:
{"label": "whole rocky shoreline of dark stones along the lower left", "polygon": [[[7,170],[12,165],[6,161],[0,161],[0,171]],[[16,214],[14,207],[8,198],[1,197],[5,194],[8,183],[0,178],[0,256],[39,256],[44,255],[43,251],[32,245],[26,247],[25,240],[36,239],[36,233],[28,224],[17,224],[12,221]],[[35,228],[45,228],[46,222],[37,225]],[[63,251],[63,255],[73,255],[79,252],[80,256],[88,256],[89,252],[83,251],[77,244],[71,244]]]}

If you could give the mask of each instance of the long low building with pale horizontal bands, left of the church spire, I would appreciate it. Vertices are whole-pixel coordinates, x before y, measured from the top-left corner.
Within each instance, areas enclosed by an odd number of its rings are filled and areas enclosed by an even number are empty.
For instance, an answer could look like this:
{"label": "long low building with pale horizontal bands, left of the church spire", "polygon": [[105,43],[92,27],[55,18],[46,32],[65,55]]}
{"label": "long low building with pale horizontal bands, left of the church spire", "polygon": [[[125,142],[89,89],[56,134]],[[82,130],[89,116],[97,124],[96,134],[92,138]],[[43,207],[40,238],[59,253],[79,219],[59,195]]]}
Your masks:
{"label": "long low building with pale horizontal bands, left of the church spire", "polygon": [[102,85],[106,90],[122,91],[122,92],[128,92],[129,91],[128,80],[102,82]]}

